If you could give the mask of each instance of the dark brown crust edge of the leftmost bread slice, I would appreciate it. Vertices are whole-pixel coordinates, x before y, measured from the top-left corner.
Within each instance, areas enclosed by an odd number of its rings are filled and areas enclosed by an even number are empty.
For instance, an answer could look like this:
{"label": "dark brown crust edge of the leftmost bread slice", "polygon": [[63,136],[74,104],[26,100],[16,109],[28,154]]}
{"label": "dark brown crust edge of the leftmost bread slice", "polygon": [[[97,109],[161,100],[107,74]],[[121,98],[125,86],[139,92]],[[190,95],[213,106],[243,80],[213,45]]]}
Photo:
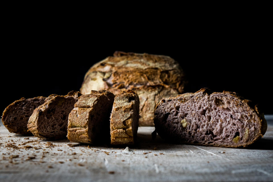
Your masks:
{"label": "dark brown crust edge of the leftmost bread slice", "polygon": [[26,103],[26,102],[31,101],[33,99],[42,99],[44,102],[44,99],[46,99],[46,97],[40,96],[40,97],[34,97],[34,98],[30,98],[30,99],[25,99],[24,97],[22,97],[21,99],[14,101],[13,103],[11,103],[9,106],[7,106],[5,108],[5,110],[3,111],[3,114],[2,114],[2,123],[9,130],[9,132],[22,134],[22,135],[31,135],[32,134],[31,132],[28,131],[27,125],[20,126],[20,127],[16,128],[14,125],[8,124],[8,122],[6,121],[6,118],[10,114],[10,111],[15,109],[17,105],[20,105],[21,102]]}

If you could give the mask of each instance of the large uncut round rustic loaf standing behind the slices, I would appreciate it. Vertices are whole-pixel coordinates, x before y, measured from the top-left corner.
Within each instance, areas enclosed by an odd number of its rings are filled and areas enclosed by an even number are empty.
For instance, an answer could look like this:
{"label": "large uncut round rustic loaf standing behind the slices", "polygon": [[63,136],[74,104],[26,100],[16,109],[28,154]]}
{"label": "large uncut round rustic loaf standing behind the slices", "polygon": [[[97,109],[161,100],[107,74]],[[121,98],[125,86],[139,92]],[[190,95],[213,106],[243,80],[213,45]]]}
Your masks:
{"label": "large uncut round rustic loaf standing behind the slices", "polygon": [[127,89],[138,93],[140,126],[154,125],[154,107],[165,97],[183,93],[184,73],[179,63],[164,55],[124,53],[94,64],[84,76],[80,92],[109,90],[115,94]]}

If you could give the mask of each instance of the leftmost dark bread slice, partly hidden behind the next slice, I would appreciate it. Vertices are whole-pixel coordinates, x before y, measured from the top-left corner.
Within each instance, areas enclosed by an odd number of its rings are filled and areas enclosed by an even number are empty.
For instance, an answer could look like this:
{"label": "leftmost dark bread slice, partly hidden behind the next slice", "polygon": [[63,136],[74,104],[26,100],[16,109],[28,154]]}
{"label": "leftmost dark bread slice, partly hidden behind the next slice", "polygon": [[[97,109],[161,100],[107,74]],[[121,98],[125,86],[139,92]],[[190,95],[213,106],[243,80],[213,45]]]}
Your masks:
{"label": "leftmost dark bread slice, partly hidden behind the next slice", "polygon": [[11,133],[30,135],[28,131],[28,119],[33,110],[45,102],[46,97],[21,98],[5,108],[2,116],[4,126]]}

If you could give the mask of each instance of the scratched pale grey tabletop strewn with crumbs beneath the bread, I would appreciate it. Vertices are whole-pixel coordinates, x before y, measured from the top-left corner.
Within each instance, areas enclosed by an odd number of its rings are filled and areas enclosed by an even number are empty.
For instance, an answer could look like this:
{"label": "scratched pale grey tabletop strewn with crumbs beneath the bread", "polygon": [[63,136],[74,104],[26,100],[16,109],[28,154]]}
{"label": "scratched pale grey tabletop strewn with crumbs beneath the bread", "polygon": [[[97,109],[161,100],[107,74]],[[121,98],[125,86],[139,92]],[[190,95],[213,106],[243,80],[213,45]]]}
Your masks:
{"label": "scratched pale grey tabletop strewn with crumbs beneath the bread", "polygon": [[0,125],[0,181],[273,181],[273,115],[264,137],[247,148],[152,141],[139,127],[129,148],[79,145],[9,133]]}

